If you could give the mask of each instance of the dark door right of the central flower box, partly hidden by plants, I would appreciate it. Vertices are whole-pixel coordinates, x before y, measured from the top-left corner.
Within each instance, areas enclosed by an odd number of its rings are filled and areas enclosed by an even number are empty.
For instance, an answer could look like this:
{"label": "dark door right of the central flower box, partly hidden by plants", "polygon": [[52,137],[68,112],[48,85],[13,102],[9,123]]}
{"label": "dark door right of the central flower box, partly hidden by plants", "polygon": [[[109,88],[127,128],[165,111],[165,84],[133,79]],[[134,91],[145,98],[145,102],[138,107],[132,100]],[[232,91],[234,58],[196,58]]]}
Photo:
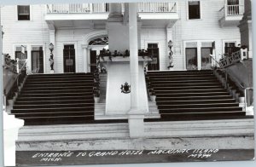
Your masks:
{"label": "dark door right of the central flower box, partly hidden by plants", "polygon": [[159,70],[160,65],[159,65],[158,43],[148,43],[148,55],[153,56],[153,61],[148,63],[148,71],[157,71],[157,70]]}

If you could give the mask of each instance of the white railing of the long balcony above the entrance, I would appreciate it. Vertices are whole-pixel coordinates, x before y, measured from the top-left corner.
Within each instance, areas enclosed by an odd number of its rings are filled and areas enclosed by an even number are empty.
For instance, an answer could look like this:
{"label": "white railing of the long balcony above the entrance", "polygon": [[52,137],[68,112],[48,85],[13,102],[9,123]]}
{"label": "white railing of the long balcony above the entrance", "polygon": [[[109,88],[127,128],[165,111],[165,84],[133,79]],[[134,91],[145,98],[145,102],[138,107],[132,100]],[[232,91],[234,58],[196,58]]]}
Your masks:
{"label": "white railing of the long balcony above the entrance", "polygon": [[[124,5],[122,5],[124,8]],[[124,9],[122,10],[124,11]],[[176,13],[177,3],[138,3],[138,12],[143,13]],[[96,14],[108,13],[109,3],[69,3],[48,4],[48,14]]]}

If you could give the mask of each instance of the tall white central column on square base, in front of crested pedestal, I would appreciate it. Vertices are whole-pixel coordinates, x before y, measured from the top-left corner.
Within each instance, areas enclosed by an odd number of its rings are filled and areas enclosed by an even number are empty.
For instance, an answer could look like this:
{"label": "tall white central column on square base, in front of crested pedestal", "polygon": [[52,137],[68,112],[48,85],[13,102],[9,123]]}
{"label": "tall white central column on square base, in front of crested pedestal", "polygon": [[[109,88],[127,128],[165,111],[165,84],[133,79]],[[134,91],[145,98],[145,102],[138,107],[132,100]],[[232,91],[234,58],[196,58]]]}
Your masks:
{"label": "tall white central column on square base, in front of crested pedestal", "polygon": [[143,111],[139,110],[137,35],[137,3],[129,3],[131,110],[128,114],[130,137],[141,137],[144,134],[144,114]]}

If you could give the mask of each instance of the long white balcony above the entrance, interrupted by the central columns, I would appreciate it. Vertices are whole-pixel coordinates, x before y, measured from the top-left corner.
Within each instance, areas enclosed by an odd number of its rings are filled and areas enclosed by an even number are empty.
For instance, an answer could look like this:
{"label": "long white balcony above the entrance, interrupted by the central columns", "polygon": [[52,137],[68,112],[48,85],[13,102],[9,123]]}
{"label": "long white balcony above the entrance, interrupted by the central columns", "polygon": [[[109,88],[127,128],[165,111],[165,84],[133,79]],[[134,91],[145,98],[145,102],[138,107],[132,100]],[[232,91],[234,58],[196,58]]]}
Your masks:
{"label": "long white balcony above the entrance, interrupted by the central columns", "polygon": [[[166,24],[168,20],[172,20],[172,22],[173,20],[178,20],[176,2],[137,4],[139,17],[145,20],[147,26],[152,24],[152,20],[159,20],[154,24]],[[124,3],[122,3],[122,11],[125,12]],[[45,20],[55,21],[57,26],[61,26],[61,20],[79,20],[78,24],[81,24],[82,20],[82,22],[87,22],[86,25],[90,20],[90,24],[104,24],[108,19],[108,14],[109,3],[47,4]]]}

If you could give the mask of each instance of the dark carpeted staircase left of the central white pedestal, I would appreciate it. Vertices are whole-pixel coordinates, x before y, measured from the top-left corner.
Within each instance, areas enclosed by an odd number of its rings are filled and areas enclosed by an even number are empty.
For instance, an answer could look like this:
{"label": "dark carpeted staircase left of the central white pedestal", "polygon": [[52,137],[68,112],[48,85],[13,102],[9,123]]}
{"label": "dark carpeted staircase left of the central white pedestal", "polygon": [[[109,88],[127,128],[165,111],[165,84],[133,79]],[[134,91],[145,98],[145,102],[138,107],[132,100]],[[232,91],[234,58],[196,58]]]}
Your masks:
{"label": "dark carpeted staircase left of the central white pedestal", "polygon": [[38,74],[26,78],[12,114],[25,124],[74,124],[94,119],[91,73]]}

